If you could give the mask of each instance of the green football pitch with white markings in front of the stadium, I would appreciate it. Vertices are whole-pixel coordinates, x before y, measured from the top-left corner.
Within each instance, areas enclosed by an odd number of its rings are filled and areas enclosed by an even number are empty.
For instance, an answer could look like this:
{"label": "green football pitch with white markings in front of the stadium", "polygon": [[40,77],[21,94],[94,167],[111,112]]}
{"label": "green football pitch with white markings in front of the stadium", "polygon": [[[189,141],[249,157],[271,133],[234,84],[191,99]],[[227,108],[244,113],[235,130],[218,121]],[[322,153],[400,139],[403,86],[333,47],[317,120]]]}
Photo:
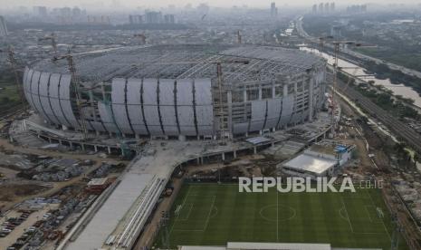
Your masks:
{"label": "green football pitch with white markings in front of the stadium", "polygon": [[[239,193],[236,184],[185,184],[156,245],[283,242],[390,249],[392,228],[377,189]],[[399,249],[408,249],[401,236],[398,243]]]}

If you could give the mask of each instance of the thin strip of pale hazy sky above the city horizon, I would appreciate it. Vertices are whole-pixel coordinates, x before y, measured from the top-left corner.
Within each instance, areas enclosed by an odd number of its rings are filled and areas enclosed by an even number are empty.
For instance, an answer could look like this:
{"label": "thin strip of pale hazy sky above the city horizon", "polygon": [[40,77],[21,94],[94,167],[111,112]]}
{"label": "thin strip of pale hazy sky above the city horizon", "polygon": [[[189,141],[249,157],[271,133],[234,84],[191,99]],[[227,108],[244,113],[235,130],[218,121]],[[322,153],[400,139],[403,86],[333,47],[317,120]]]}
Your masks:
{"label": "thin strip of pale hazy sky above the city horizon", "polygon": [[232,6],[232,5],[249,5],[255,7],[269,6],[271,2],[275,2],[277,5],[313,5],[320,2],[336,2],[337,5],[353,4],[417,4],[421,3],[421,0],[0,0],[0,5],[3,7],[13,6],[33,6],[33,5],[46,5],[46,6],[74,6],[74,5],[85,5],[99,7],[111,6],[113,2],[117,5],[124,7],[133,6],[167,6],[177,5],[184,6],[190,3],[194,6],[200,3],[207,2],[209,5],[218,6]]}

